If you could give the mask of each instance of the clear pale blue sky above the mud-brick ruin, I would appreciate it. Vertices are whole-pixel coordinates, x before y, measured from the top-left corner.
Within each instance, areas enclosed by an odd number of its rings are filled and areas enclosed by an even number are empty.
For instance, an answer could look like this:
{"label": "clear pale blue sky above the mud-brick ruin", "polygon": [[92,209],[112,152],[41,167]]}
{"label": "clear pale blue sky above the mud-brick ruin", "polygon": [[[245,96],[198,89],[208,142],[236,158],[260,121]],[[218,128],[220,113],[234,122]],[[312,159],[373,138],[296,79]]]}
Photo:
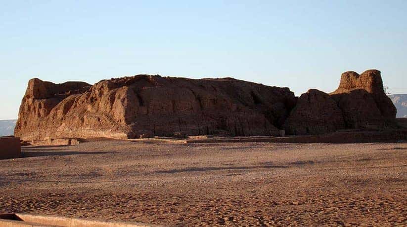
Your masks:
{"label": "clear pale blue sky above the mud-brick ruin", "polygon": [[32,77],[232,76],[301,95],[375,68],[407,93],[406,0],[0,0],[0,34],[0,119]]}

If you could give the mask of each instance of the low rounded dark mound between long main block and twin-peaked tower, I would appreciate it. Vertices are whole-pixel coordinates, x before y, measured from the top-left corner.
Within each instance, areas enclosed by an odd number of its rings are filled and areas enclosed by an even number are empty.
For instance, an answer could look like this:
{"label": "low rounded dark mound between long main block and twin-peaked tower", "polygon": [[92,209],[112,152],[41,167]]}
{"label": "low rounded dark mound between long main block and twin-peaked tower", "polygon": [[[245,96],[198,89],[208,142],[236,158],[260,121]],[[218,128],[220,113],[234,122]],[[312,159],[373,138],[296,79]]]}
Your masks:
{"label": "low rounded dark mound between long main block and twin-peaked tower", "polygon": [[345,127],[342,111],[329,94],[310,89],[300,96],[285,123],[287,134],[323,134]]}

